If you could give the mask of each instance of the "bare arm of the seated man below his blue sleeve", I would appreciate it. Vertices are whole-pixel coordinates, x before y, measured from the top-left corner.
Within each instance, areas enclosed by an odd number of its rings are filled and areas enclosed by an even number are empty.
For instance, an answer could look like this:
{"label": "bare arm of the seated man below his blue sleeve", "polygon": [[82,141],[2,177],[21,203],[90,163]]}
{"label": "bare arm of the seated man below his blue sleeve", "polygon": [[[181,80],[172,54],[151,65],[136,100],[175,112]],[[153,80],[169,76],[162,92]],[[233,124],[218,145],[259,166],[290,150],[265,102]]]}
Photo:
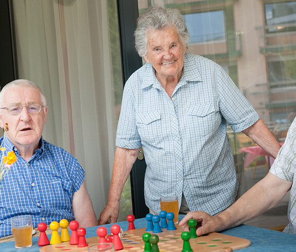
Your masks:
{"label": "bare arm of the seated man below his blue sleeve", "polygon": [[80,227],[99,225],[93,203],[91,203],[84,181],[80,189],[73,194],[72,210],[75,220],[78,221]]}

